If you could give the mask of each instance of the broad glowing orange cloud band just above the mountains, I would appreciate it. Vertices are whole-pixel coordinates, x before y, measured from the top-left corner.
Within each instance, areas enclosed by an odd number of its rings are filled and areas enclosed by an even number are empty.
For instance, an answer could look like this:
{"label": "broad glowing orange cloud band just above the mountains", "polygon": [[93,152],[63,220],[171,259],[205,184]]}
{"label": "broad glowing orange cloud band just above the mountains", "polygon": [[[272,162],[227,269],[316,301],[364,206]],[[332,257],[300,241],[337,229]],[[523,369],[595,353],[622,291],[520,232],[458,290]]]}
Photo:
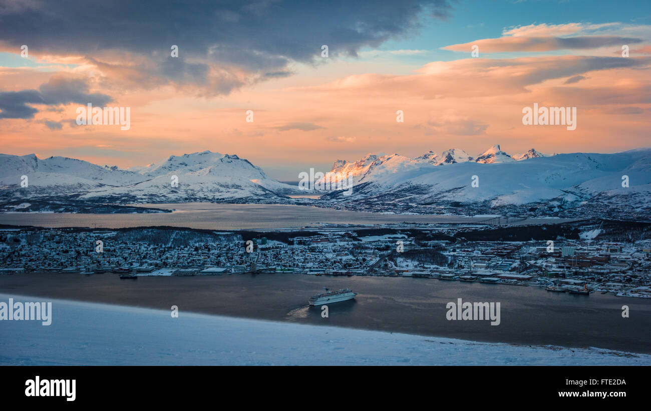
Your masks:
{"label": "broad glowing orange cloud band just above the mountains", "polygon": [[[331,64],[340,70],[338,62]],[[464,59],[431,62],[408,75],[363,73],[316,84],[316,77],[299,73],[228,98],[197,98],[192,88],[171,85],[120,89],[115,104],[132,107],[129,131],[70,124],[75,106],[65,105],[61,112],[40,111],[33,120],[0,121],[0,144],[9,153],[119,166],[212,150],[266,170],[328,168],[335,159],[380,151],[415,156],[458,147],[475,155],[495,143],[509,153],[531,147],[550,153],[622,151],[648,146],[650,64],[649,57]],[[1,73],[3,86],[9,86]],[[27,79],[26,73],[5,75]],[[587,78],[564,84],[579,75]],[[111,94],[96,85],[94,91]],[[523,126],[521,109],[534,102],[578,107],[577,129]],[[249,109],[253,123],[245,121]],[[397,110],[404,111],[404,123],[396,122]],[[48,129],[46,121],[61,122],[62,128]]]}

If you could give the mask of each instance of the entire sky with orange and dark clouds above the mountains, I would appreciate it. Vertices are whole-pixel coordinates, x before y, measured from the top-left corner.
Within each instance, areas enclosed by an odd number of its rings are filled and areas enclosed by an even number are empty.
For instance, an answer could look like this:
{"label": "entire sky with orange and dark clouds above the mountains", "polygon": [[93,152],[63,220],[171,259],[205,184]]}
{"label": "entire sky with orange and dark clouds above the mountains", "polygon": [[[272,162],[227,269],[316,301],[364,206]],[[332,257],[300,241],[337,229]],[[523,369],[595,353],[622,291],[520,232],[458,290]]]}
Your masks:
{"label": "entire sky with orange and dark clouds above the mountains", "polygon": [[[648,0],[0,0],[0,152],[210,150],[282,181],[367,153],[621,152],[651,146],[650,67]],[[129,129],[77,124],[88,103]],[[523,124],[534,103],[576,129]]]}

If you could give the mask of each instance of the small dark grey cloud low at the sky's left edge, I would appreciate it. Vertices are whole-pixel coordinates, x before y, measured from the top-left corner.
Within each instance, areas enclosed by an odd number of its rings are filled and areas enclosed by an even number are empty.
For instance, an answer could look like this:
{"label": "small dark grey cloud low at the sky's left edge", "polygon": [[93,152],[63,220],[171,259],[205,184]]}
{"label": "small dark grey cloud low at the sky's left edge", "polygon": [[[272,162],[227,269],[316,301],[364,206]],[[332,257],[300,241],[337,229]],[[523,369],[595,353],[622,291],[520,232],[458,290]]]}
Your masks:
{"label": "small dark grey cloud low at the sky's left edge", "polygon": [[89,86],[81,79],[54,76],[38,90],[0,92],[0,119],[33,118],[38,110],[30,104],[92,103],[99,106],[109,101],[111,97],[106,94],[89,93]]}

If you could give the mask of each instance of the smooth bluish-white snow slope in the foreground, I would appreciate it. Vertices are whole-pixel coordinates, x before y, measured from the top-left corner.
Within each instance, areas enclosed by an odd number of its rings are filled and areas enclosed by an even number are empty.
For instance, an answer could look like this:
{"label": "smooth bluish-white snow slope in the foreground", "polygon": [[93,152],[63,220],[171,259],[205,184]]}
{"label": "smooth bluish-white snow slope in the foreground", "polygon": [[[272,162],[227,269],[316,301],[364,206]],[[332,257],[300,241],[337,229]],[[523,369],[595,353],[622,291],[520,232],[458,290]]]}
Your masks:
{"label": "smooth bluish-white snow slope in the foreground", "polygon": [[[42,297],[2,295],[15,300]],[[3,321],[1,365],[651,365],[651,355],[478,343],[52,300],[53,320]]]}

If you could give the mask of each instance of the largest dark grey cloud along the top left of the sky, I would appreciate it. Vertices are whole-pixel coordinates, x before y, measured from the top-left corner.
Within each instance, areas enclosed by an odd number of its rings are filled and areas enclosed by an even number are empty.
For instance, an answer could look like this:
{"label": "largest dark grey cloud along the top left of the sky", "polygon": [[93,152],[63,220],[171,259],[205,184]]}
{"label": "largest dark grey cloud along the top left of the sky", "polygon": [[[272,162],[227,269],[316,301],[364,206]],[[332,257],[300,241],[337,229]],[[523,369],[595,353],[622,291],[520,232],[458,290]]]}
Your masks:
{"label": "largest dark grey cloud along the top left of the sky", "polygon": [[[191,83],[225,94],[289,75],[291,62],[322,60],[323,44],[329,57],[356,55],[361,47],[416,29],[420,16],[447,18],[450,1],[33,2],[0,8],[0,43],[27,44],[35,55],[84,55],[100,65],[115,62],[109,55],[124,51],[144,59],[112,67],[128,73],[134,85]],[[178,57],[170,58],[172,45]]]}

